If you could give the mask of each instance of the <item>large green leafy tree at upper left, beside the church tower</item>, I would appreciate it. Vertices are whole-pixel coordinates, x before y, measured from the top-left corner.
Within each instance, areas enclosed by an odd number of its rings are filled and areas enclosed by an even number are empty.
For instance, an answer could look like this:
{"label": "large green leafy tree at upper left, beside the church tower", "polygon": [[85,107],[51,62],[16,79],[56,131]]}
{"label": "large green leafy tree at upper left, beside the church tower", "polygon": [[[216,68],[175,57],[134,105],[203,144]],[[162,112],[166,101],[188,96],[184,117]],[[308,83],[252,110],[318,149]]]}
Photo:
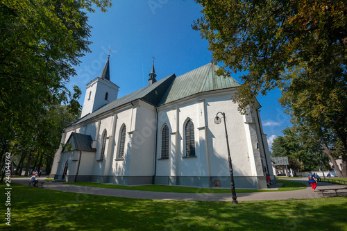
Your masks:
{"label": "large green leafy tree at upper left, beside the church tower", "polygon": [[0,1],[0,129],[1,158],[22,135],[30,141],[47,107],[64,103],[76,114],[81,90],[66,83],[72,68],[89,52],[85,10],[92,4],[105,11],[110,0]]}

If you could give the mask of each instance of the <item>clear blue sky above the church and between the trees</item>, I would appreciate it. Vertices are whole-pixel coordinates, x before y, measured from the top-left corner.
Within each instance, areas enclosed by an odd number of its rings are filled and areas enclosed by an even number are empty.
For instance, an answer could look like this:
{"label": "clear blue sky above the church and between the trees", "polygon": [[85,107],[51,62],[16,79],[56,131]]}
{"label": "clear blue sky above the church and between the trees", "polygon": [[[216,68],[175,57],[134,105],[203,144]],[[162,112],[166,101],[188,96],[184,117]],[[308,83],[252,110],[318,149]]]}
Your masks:
{"label": "clear blue sky above the church and between the trees", "polygon": [[[92,26],[92,53],[81,58],[77,76],[69,88],[78,85],[83,94],[85,85],[99,76],[110,53],[110,80],[119,88],[119,98],[148,84],[155,56],[157,80],[180,76],[211,61],[208,42],[193,31],[193,21],[201,17],[200,6],[193,0],[117,0],[108,12],[88,13]],[[233,76],[239,81],[237,75]],[[280,92],[274,90],[258,97],[260,116],[268,141],[282,135],[290,117],[278,103]]]}

